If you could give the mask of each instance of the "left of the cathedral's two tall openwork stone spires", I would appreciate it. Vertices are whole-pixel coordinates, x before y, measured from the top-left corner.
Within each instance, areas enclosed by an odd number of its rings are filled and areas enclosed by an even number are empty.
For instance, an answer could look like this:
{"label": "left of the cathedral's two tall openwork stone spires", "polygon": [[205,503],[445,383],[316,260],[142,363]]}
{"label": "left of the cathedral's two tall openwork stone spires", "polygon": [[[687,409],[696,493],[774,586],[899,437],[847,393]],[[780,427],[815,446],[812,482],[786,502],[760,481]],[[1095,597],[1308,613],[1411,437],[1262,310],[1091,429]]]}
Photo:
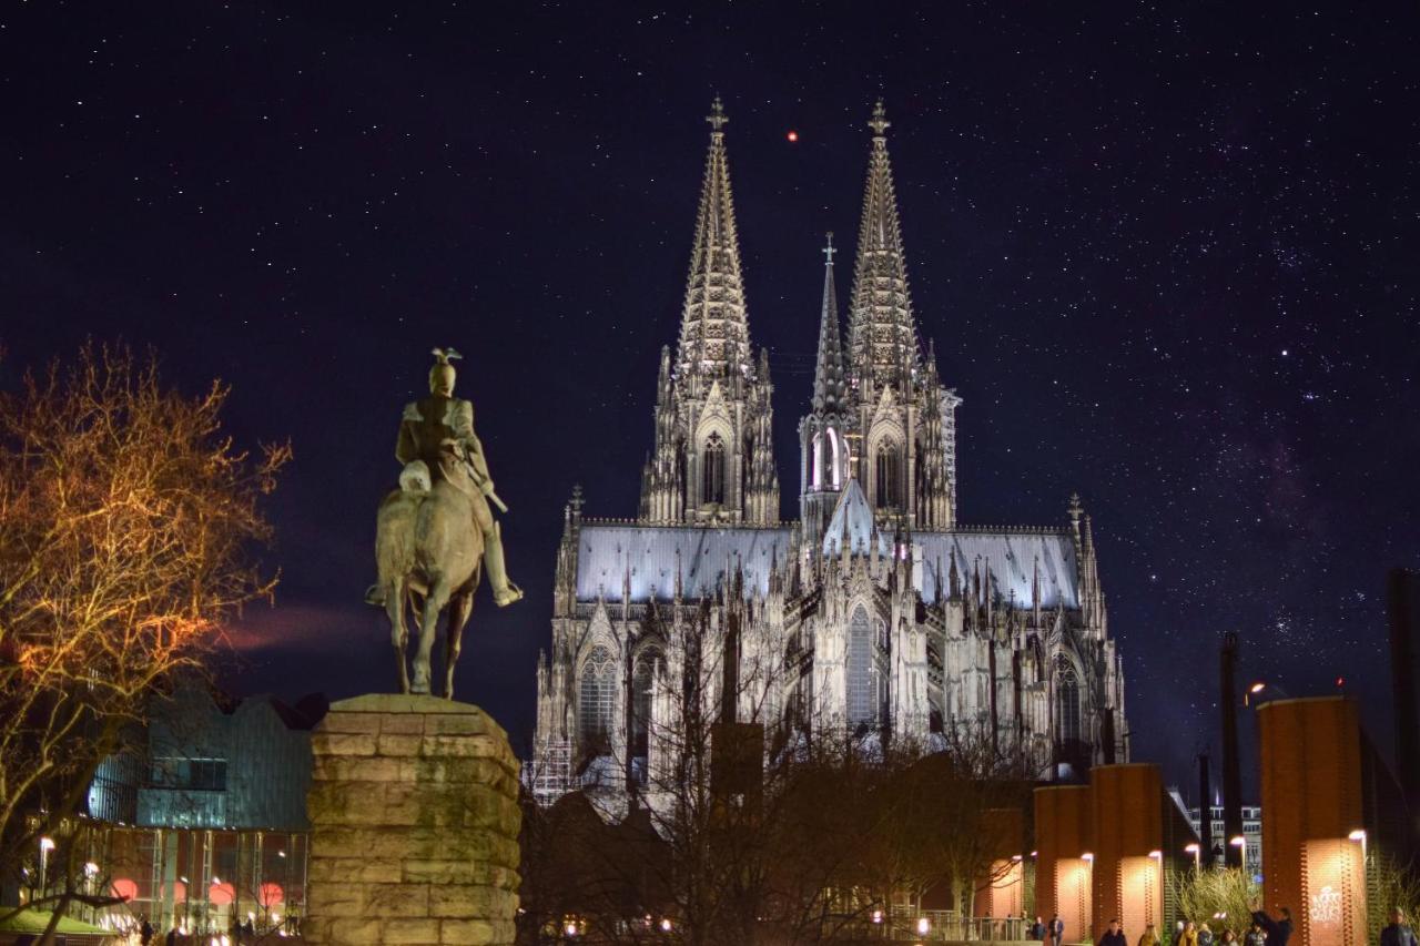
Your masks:
{"label": "left of the cathedral's two tall openwork stone spires", "polygon": [[676,379],[746,375],[750,362],[750,325],[740,277],[740,240],[730,192],[730,162],[724,125],[730,121],[717,95],[706,115],[710,151],[700,186],[690,277],[680,317]]}

